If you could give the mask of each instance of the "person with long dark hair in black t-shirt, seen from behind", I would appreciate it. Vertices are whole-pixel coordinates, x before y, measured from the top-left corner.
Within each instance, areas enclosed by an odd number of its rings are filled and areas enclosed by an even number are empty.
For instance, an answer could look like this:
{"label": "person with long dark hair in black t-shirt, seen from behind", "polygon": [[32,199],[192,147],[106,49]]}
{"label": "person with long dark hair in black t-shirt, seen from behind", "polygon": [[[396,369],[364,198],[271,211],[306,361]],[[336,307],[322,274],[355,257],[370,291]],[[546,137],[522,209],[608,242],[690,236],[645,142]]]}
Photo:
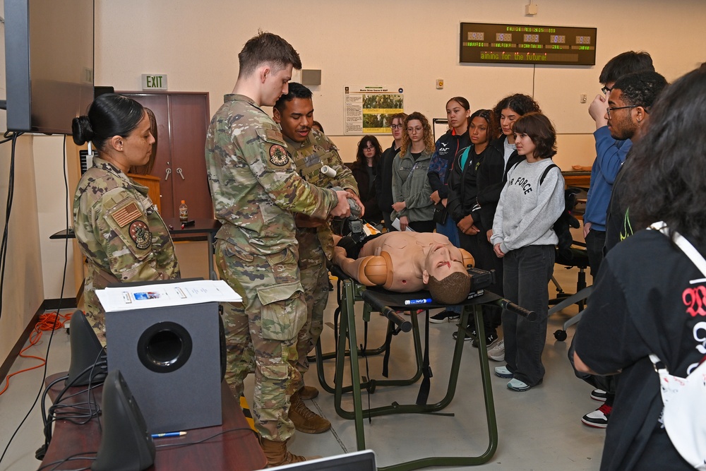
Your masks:
{"label": "person with long dark hair in black t-shirt, seen from behind", "polygon": [[[635,143],[622,195],[633,228],[664,221],[706,254],[706,69],[683,76],[657,98]],[[606,431],[602,470],[693,469],[660,422],[659,375],[649,355],[687,376],[704,357],[706,280],[656,230],[640,230],[607,254],[574,338],[575,367],[621,371]]]}

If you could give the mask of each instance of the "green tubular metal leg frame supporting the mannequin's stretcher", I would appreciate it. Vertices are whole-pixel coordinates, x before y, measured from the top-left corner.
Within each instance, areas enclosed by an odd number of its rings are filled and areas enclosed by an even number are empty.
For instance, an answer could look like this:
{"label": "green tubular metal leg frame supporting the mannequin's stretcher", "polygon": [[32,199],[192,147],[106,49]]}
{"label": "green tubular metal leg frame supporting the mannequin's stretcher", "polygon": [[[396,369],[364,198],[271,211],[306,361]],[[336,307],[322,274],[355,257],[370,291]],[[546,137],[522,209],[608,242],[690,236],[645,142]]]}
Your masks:
{"label": "green tubular metal leg frame supporting the mannequin's stretcher", "polygon": [[[388,292],[389,293],[389,292]],[[393,294],[393,293],[390,293]],[[409,297],[409,294],[398,295],[400,299],[405,299]],[[497,304],[498,300],[501,299],[496,294],[491,292],[486,292],[480,297],[474,299],[468,299],[464,305],[462,315],[460,318],[460,323],[458,327],[457,340],[454,347],[453,359],[451,364],[451,371],[449,375],[448,389],[444,398],[436,404],[408,404],[400,405],[393,403],[392,405],[383,407],[373,407],[371,409],[363,409],[361,400],[361,389],[369,386],[367,382],[360,381],[360,371],[358,359],[360,356],[359,350],[357,348],[357,335],[356,335],[356,324],[355,324],[355,313],[354,304],[356,301],[363,300],[366,304],[364,307],[364,321],[370,320],[370,312],[373,309],[378,311],[383,311],[383,306],[390,308],[401,308],[403,310],[409,309],[409,306],[404,306],[402,301],[402,306],[397,303],[397,305],[390,306],[388,304],[381,304],[381,300],[378,299],[378,294],[373,290],[366,290],[364,286],[359,285],[352,280],[342,280],[342,296],[340,299],[340,333],[338,335],[337,348],[335,352],[335,378],[334,378],[334,401],[335,409],[338,415],[345,419],[354,419],[355,421],[355,431],[356,431],[356,444],[358,450],[366,449],[365,446],[365,431],[363,427],[364,417],[378,417],[381,415],[390,414],[424,414],[432,413],[442,410],[444,407],[450,404],[453,400],[453,396],[456,390],[458,371],[461,364],[461,355],[463,352],[464,344],[464,333],[465,326],[467,326],[468,318],[471,314],[475,317],[476,332],[478,334],[478,360],[481,370],[481,384],[483,386],[483,397],[486,410],[486,418],[488,423],[488,435],[489,443],[486,451],[478,456],[435,456],[427,458],[419,458],[416,460],[407,461],[404,463],[397,463],[396,465],[379,467],[380,471],[409,471],[417,470],[422,467],[429,466],[474,466],[487,463],[496,450],[498,449],[498,424],[495,415],[495,403],[493,401],[493,390],[491,387],[491,373],[490,366],[488,364],[488,352],[486,350],[486,340],[483,325],[483,316],[481,313],[482,304]],[[387,299],[389,301],[389,297]],[[415,308],[417,306],[414,306]],[[424,308],[428,309],[433,307],[443,307],[441,305],[425,305]],[[412,315],[412,331],[414,333],[414,350],[417,357],[417,374],[412,378],[407,380],[381,380],[376,381],[377,386],[395,386],[395,385],[407,385],[416,382],[421,376],[421,342],[419,341],[419,321],[417,320],[417,315]],[[388,318],[390,318],[388,316]],[[392,319],[390,319],[392,320]],[[390,328],[388,323],[388,329]],[[427,326],[428,328],[428,326]],[[348,344],[348,345],[347,345]],[[347,346],[349,349],[347,350]],[[383,345],[384,347],[384,345]],[[381,347],[381,349],[383,349]],[[378,349],[378,350],[381,350]],[[321,345],[317,346],[317,369],[320,372],[320,380],[323,376],[322,361],[323,356],[321,355]],[[350,378],[352,386],[343,386],[343,378],[345,371],[345,359],[350,358]],[[325,381],[322,382],[322,385]],[[328,386],[328,385],[327,385]],[[343,393],[352,392],[353,393],[353,410],[344,410],[341,407],[341,400]]]}

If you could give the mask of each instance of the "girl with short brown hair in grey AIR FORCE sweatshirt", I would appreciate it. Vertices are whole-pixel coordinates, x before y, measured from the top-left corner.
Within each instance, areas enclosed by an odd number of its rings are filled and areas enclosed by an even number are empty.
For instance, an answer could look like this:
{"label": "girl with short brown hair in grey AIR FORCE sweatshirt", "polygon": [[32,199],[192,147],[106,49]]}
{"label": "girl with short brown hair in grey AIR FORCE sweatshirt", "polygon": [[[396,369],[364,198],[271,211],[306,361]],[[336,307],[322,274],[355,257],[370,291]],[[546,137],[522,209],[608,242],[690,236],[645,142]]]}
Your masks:
{"label": "girl with short brown hair in grey AIR FORCE sweatshirt", "polygon": [[[526,391],[542,383],[549,280],[558,238],[554,221],[564,210],[564,178],[551,161],[556,131],[541,113],[527,113],[514,126],[517,154],[523,159],[508,172],[498,201],[491,244],[503,258],[505,297],[537,313],[530,322],[503,310],[505,366],[495,374],[512,378],[508,388]],[[556,168],[554,168],[556,167]]]}

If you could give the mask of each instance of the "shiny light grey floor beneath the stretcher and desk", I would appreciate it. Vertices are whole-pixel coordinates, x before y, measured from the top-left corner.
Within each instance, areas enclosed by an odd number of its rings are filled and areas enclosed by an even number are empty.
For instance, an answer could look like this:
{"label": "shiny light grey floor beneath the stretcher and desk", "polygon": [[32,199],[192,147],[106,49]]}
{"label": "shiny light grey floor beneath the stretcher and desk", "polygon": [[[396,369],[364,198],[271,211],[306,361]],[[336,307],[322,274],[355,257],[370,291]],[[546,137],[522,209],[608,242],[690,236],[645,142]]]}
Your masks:
{"label": "shiny light grey floor beneath the stretcher and desk", "polygon": [[[577,270],[566,270],[556,266],[555,275],[565,290],[575,287]],[[589,277],[590,279],[590,277]],[[550,284],[550,295],[554,287]],[[333,350],[333,305],[335,295],[331,294],[326,311],[327,326],[322,340],[323,350]],[[361,304],[357,305],[357,312]],[[574,328],[568,331],[566,342],[554,339],[554,331],[563,321],[575,314],[576,306],[549,318],[544,364],[544,383],[525,393],[516,393],[506,388],[508,380],[493,376],[493,398],[496,405],[499,445],[498,451],[486,464],[475,467],[479,470],[598,470],[603,448],[604,431],[591,429],[581,424],[580,418],[597,408],[600,403],[590,399],[591,388],[575,378],[566,352],[573,337]],[[434,314],[433,311],[432,314]],[[373,314],[369,328],[369,346],[381,345],[384,335],[385,318]],[[359,342],[362,328],[359,329]],[[431,324],[431,393],[429,403],[436,403],[445,394],[448,381],[450,357],[453,352],[452,333],[455,323]],[[44,355],[49,335],[28,353]],[[414,371],[412,357],[412,335],[400,333],[393,339],[390,357],[390,377],[405,377]],[[69,363],[68,335],[58,331],[52,340],[49,352],[48,374],[66,371]],[[35,364],[36,360],[18,359],[12,371]],[[491,362],[491,367],[503,363]],[[327,378],[333,378],[333,360],[325,362]],[[316,365],[306,375],[306,382],[318,386]],[[365,373],[361,361],[361,374]],[[369,358],[369,376],[383,378],[381,357]],[[409,375],[407,375],[409,376]],[[40,390],[42,371],[40,369],[11,378],[10,388],[0,396],[0,446],[5,448],[20,421],[27,414]],[[330,381],[330,380],[329,380]],[[247,384],[246,397],[252,400],[251,378]],[[4,385],[0,385],[4,386]],[[414,403],[419,390],[418,383],[405,387],[380,387],[372,395],[364,393],[364,405],[370,401],[372,407]],[[318,398],[307,401],[315,412],[327,417],[333,424],[330,431],[319,435],[297,433],[290,449],[301,455],[337,455],[356,450],[354,423],[339,417],[334,408],[333,395],[322,390]],[[345,395],[342,407],[351,409],[350,395]],[[488,444],[486,418],[484,413],[477,350],[470,342],[464,345],[464,352],[455,397],[445,410],[448,415],[388,415],[373,417],[372,423],[365,422],[366,447],[377,455],[378,466],[389,466],[403,461],[443,455],[479,455]],[[24,471],[36,469],[35,450],[42,445],[42,419],[35,405],[28,419],[13,439],[0,470]],[[1,453],[1,451],[0,451]],[[435,469],[435,468],[426,468]],[[462,469],[443,467],[436,469]],[[463,468],[467,469],[467,468]]]}

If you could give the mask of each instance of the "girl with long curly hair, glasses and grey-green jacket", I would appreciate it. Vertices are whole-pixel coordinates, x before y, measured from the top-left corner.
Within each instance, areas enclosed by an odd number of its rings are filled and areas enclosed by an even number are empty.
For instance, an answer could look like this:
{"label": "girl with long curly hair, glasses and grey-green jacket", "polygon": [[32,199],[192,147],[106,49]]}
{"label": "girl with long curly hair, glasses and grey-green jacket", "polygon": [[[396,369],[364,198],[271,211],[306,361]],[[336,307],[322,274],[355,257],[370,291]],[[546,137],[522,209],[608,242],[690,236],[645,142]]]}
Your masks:
{"label": "girl with long curly hair, glasses and grey-green jacket", "polygon": [[429,119],[414,112],[405,119],[400,157],[393,160],[393,220],[400,220],[400,230],[407,226],[417,232],[433,232],[434,205],[426,177],[434,151]]}

